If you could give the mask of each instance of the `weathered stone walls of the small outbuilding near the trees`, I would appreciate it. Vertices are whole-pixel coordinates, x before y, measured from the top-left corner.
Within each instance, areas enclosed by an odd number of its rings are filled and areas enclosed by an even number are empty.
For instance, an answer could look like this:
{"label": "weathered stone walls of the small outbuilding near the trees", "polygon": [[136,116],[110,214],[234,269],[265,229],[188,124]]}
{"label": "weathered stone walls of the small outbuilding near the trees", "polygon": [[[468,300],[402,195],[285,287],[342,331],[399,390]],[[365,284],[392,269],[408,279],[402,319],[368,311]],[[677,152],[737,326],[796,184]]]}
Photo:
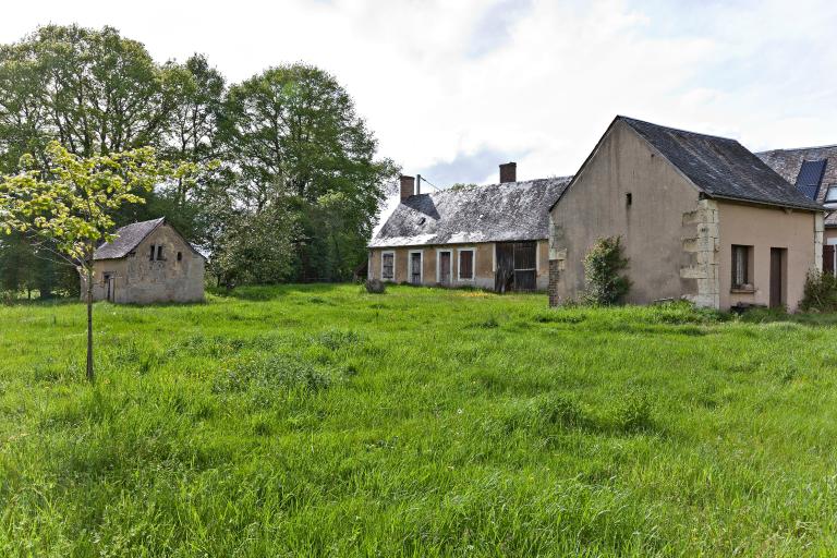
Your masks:
{"label": "weathered stone walls of the small outbuilding near the trees", "polygon": [[[163,259],[151,260],[151,245],[163,246]],[[178,260],[178,252],[181,260]],[[162,225],[121,259],[97,260],[94,300],[107,298],[105,274],[111,274],[113,302],[197,302],[204,300],[204,258],[168,225]],[[84,295],[84,286],[82,286]]]}

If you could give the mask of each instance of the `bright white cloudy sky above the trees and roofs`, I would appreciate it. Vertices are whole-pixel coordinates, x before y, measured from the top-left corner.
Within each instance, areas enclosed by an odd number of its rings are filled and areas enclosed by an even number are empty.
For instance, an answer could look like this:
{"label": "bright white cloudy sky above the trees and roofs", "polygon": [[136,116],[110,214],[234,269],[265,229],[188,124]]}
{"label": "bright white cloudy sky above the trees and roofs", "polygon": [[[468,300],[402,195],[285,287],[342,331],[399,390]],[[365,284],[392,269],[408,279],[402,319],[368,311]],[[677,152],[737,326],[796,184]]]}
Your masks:
{"label": "bright white cloudy sky above the trees and roofs", "polygon": [[0,41],[105,24],[231,81],[304,60],[354,97],[380,155],[434,183],[571,174],[615,114],[753,150],[837,143],[837,2],[14,2]]}

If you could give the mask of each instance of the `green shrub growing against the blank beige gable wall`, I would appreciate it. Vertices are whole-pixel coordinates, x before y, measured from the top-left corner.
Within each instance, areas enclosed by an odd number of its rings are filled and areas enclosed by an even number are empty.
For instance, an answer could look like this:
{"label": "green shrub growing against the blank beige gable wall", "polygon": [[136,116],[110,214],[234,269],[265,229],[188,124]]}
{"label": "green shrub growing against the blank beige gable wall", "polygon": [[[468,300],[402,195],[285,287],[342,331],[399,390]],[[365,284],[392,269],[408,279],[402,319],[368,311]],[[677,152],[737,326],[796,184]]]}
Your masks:
{"label": "green shrub growing against the blank beige gable wall", "polygon": [[620,275],[627,267],[628,258],[622,256],[621,238],[598,239],[584,256],[584,278],[587,283],[584,301],[604,306],[622,302],[631,287],[631,281]]}

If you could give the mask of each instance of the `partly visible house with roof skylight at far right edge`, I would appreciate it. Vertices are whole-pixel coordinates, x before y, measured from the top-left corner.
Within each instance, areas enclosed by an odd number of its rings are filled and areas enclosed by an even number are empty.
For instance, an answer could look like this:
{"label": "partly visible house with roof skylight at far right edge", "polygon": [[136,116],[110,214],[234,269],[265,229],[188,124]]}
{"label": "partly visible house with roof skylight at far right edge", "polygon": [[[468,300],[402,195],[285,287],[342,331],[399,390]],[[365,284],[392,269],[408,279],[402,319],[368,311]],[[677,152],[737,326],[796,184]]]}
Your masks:
{"label": "partly visible house with roof skylight at far right edge", "polygon": [[837,274],[837,145],[773,149],[759,158],[809,198],[824,204],[823,270]]}

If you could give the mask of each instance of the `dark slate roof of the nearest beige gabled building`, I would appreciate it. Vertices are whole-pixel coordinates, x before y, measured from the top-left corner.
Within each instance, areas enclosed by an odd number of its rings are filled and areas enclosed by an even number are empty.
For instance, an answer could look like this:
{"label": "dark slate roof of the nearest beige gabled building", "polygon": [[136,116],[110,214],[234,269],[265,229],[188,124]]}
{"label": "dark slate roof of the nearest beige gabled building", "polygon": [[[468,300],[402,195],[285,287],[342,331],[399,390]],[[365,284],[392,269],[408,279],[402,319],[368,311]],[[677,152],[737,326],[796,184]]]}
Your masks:
{"label": "dark slate roof of the nearest beige gabled building", "polygon": [[617,117],[709,197],[824,210],[735,140]]}

